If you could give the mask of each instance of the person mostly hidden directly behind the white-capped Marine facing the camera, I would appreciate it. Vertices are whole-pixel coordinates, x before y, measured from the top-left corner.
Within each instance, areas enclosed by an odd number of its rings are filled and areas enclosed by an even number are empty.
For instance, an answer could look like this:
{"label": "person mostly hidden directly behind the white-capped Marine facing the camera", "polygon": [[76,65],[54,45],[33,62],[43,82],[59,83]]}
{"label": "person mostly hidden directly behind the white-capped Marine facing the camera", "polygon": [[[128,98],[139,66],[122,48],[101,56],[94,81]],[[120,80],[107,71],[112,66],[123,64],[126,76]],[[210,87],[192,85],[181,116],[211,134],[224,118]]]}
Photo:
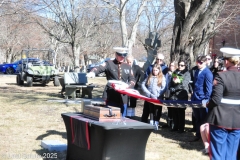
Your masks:
{"label": "person mostly hidden directly behind the white-capped Marine facing the camera", "polygon": [[[134,57],[132,55],[128,55],[126,57],[126,62],[132,67],[133,75],[135,78],[135,86],[134,89],[139,90],[141,88],[141,83],[144,78],[144,73],[141,70],[141,68],[137,64],[133,64]],[[137,106],[137,98],[129,97],[129,103],[128,103],[128,110],[130,110],[130,114],[127,116],[132,117],[135,116],[135,108]]]}

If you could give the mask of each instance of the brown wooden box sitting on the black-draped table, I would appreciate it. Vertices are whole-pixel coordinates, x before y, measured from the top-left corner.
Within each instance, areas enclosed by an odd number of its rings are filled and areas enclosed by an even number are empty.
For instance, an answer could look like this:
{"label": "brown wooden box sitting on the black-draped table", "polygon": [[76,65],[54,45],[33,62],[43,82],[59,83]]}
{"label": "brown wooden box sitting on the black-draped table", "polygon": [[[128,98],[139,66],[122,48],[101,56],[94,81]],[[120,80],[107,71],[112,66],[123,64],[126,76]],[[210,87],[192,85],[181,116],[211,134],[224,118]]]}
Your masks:
{"label": "brown wooden box sitting on the black-draped table", "polygon": [[121,110],[117,107],[103,107],[103,106],[93,106],[85,105],[83,107],[83,114],[89,118],[96,120],[107,120],[107,119],[120,119]]}

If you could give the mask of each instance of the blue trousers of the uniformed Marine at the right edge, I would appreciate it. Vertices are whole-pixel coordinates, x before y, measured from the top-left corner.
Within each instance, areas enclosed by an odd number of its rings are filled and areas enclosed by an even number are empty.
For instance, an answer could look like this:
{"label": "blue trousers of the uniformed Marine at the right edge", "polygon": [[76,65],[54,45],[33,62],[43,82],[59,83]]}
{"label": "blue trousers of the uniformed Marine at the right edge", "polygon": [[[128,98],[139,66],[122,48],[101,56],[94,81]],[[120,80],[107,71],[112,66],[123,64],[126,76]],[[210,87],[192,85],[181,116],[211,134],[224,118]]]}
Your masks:
{"label": "blue trousers of the uniformed Marine at the right edge", "polygon": [[240,130],[227,130],[210,125],[210,159],[236,160]]}

